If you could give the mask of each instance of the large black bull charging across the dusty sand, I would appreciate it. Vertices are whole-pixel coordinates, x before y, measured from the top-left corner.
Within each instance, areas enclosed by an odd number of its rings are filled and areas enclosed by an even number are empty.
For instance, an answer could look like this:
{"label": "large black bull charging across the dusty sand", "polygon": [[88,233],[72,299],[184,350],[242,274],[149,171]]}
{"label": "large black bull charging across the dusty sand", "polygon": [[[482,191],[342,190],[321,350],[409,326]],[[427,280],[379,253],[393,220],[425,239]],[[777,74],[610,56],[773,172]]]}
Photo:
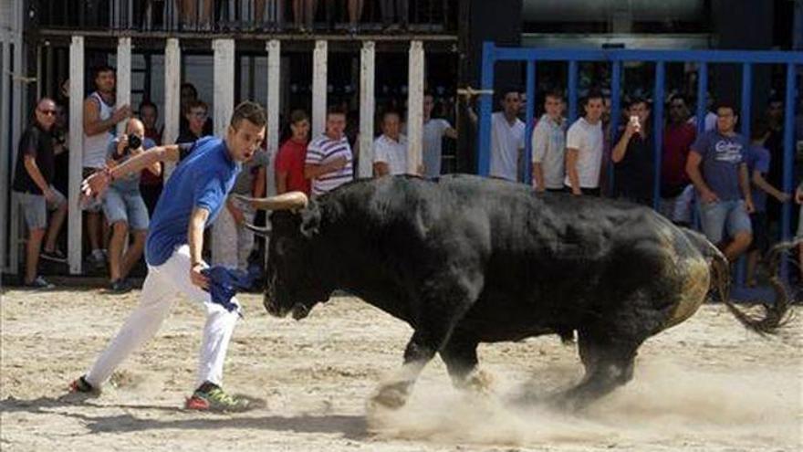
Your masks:
{"label": "large black bull charging across the dusty sand", "polygon": [[736,308],[719,250],[638,205],[467,175],[384,177],[309,202],[298,193],[252,202],[274,210],[271,314],[303,318],[344,289],[412,326],[405,365],[374,397],[381,405],[402,405],[436,352],[456,385],[481,387],[479,342],[577,331],[586,375],[560,400],[581,406],[627,383],[641,343],[694,314],[712,283],[754,331],[775,331],[787,311],[777,279],[763,316]]}

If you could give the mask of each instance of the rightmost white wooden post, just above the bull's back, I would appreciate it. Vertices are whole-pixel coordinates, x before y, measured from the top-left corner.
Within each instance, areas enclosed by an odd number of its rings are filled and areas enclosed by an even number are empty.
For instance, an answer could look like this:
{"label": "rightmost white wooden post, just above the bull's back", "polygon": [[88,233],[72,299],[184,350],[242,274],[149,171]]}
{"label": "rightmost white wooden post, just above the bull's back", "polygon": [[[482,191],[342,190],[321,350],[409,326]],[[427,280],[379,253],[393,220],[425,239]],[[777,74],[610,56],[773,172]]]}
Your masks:
{"label": "rightmost white wooden post, just above the bull's back", "polygon": [[410,43],[410,73],[407,86],[407,171],[418,173],[422,163],[423,135],[423,45]]}

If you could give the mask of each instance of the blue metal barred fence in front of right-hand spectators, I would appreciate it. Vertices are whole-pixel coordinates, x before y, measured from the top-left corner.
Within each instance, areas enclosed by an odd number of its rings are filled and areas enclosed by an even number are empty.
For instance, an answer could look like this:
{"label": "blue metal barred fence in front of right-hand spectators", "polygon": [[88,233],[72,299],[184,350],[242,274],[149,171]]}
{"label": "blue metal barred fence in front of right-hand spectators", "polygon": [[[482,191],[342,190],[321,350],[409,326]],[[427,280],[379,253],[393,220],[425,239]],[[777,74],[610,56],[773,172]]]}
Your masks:
{"label": "blue metal barred fence in front of right-hand spectators", "polygon": [[[655,133],[655,182],[653,187],[654,200],[660,202],[661,187],[661,161],[662,161],[662,123],[663,123],[663,98],[665,83],[665,64],[666,63],[686,63],[694,62],[698,67],[697,77],[697,130],[704,131],[705,114],[707,108],[705,99],[708,87],[708,65],[712,63],[731,63],[742,65],[742,110],[740,121],[742,133],[749,136],[750,133],[750,109],[753,81],[753,66],[756,64],[780,64],[786,65],[787,81],[785,96],[785,116],[784,116],[784,153],[783,153],[783,186],[782,190],[791,193],[794,188],[793,165],[794,155],[794,121],[795,105],[797,93],[797,80],[795,69],[797,65],[803,65],[803,52],[789,51],[754,51],[754,50],[635,50],[635,49],[553,49],[553,48],[523,48],[523,47],[496,47],[493,42],[485,42],[483,46],[483,66],[482,66],[482,89],[494,89],[494,69],[498,61],[513,61],[527,63],[527,134],[525,162],[527,171],[525,181],[529,182],[532,171],[531,152],[532,144],[530,137],[534,126],[533,115],[535,111],[535,87],[537,83],[536,63],[543,61],[567,62],[568,63],[568,119],[573,121],[577,117],[578,111],[578,64],[581,61],[610,62],[611,65],[611,112],[610,112],[610,131],[617,131],[620,119],[620,97],[621,97],[621,65],[623,62],[639,61],[655,63],[655,84],[653,87],[653,99],[655,100],[652,108],[652,119]],[[480,100],[480,130],[479,130],[479,149],[478,173],[488,175],[490,170],[490,150],[491,150],[491,110],[493,107],[493,96],[483,96]],[[657,207],[657,205],[656,205]],[[781,238],[788,240],[791,238],[791,211],[792,205],[783,205]],[[784,266],[784,274],[787,268]]]}

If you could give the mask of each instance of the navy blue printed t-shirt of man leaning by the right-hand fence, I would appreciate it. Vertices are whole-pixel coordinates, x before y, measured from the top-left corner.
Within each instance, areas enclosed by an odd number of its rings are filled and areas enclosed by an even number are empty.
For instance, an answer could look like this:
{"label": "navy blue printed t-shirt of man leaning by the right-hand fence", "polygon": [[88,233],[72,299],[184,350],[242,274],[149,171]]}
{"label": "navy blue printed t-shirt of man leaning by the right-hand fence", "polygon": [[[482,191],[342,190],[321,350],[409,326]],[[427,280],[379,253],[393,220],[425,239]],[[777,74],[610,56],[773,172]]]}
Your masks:
{"label": "navy blue printed t-shirt of man leaning by the right-hand fence", "polygon": [[739,165],[746,160],[749,144],[742,135],[725,136],[706,131],[697,137],[692,150],[703,157],[703,179],[721,201],[742,199]]}

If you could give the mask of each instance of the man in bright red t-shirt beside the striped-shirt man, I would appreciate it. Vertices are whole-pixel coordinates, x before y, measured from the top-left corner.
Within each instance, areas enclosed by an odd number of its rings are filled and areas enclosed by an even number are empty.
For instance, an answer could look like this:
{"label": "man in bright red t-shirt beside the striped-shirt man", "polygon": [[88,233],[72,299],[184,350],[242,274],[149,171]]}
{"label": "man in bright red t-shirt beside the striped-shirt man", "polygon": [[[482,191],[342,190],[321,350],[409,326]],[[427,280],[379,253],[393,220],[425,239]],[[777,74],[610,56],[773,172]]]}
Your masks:
{"label": "man in bright red t-shirt beside the striped-shirt man", "polygon": [[309,195],[309,179],[304,178],[309,141],[309,117],[304,110],[290,114],[290,131],[287,142],[276,155],[276,194],[304,192]]}

